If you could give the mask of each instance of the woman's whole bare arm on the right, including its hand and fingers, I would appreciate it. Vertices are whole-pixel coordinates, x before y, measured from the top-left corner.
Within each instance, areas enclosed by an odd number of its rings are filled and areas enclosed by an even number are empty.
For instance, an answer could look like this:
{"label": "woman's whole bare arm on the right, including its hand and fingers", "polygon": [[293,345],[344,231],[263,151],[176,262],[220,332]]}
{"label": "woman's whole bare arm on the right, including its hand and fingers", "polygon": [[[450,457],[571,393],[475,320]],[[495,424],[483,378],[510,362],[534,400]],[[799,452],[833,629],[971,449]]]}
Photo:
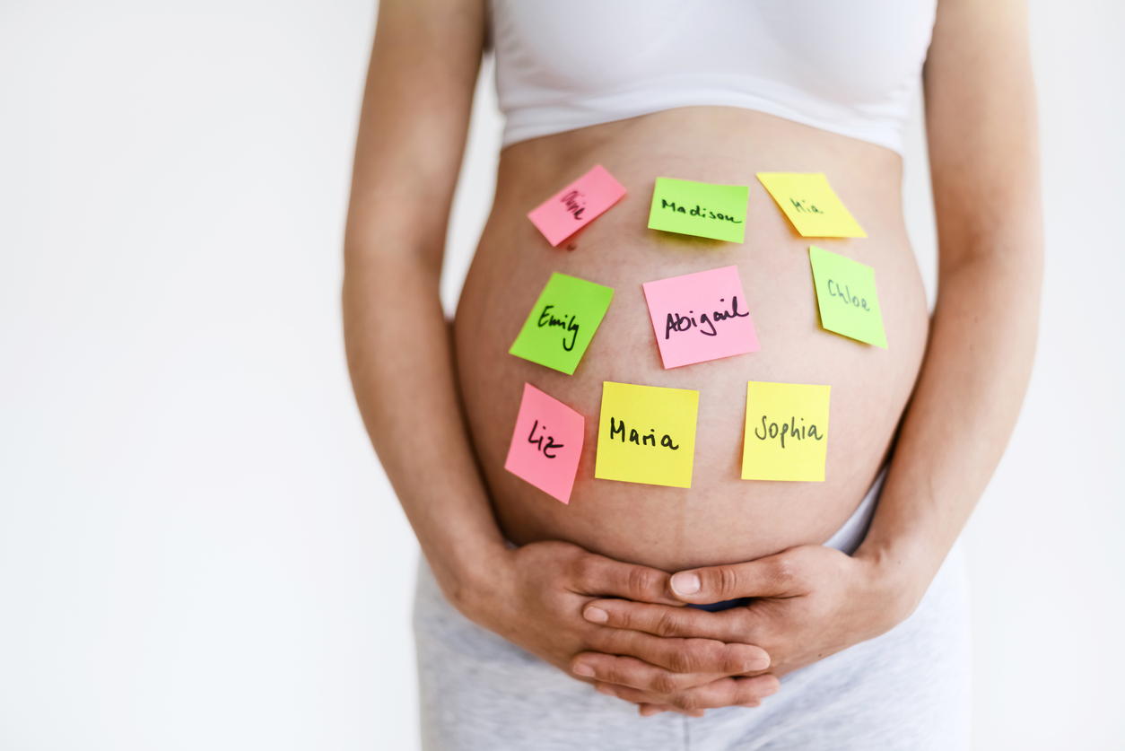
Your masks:
{"label": "woman's whole bare arm on the right, including its hand and fingers", "polygon": [[[587,617],[762,645],[783,674],[885,633],[918,606],[1004,453],[1030,377],[1043,275],[1035,95],[1023,0],[942,0],[925,70],[940,261],[915,394],[864,543],[801,546],[681,572],[686,602],[755,597],[717,614],[597,601]],[[687,688],[652,667],[579,654],[603,689],[676,707],[737,701],[740,678]]]}

